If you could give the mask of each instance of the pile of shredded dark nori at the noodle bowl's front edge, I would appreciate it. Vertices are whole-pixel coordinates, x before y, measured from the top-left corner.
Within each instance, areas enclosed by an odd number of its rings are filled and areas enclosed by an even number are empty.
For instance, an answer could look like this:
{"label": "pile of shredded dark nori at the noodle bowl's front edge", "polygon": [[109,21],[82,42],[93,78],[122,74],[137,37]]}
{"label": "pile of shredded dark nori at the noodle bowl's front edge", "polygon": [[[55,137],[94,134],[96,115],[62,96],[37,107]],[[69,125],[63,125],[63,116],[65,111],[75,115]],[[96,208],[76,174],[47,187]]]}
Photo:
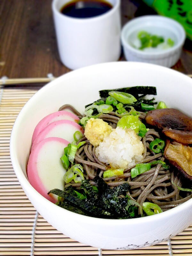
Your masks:
{"label": "pile of shredded dark nori at the noodle bowl's front edge", "polygon": [[[110,188],[107,183],[96,176],[94,182],[97,189],[89,183],[89,180],[83,180],[80,191],[86,194],[86,199],[79,199],[72,186],[60,189],[52,189],[49,193],[60,196],[56,204],[69,211],[80,213],[87,216],[99,218],[134,218],[136,217],[137,207],[127,208],[126,192],[130,189],[128,183],[123,183],[115,188]],[[78,190],[79,191],[79,190]],[[120,197],[124,195],[125,197]]]}

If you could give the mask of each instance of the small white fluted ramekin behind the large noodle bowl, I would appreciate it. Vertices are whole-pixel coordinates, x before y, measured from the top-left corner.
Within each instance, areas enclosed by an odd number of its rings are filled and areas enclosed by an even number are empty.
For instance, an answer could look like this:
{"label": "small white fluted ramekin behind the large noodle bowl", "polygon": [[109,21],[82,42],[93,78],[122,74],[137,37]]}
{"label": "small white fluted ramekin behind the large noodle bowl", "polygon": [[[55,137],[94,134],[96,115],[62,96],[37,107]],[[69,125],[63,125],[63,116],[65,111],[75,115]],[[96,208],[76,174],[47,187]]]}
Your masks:
{"label": "small white fluted ramekin behind the large noodle bowl", "polygon": [[[175,44],[167,49],[159,49],[158,46],[153,49],[138,50],[133,45],[138,46],[137,35],[143,30],[152,35],[163,36],[165,41],[167,38],[171,38]],[[185,38],[185,30],[180,23],[159,15],[134,18],[124,25],[121,32],[121,42],[126,60],[148,62],[169,68],[179,60]]]}

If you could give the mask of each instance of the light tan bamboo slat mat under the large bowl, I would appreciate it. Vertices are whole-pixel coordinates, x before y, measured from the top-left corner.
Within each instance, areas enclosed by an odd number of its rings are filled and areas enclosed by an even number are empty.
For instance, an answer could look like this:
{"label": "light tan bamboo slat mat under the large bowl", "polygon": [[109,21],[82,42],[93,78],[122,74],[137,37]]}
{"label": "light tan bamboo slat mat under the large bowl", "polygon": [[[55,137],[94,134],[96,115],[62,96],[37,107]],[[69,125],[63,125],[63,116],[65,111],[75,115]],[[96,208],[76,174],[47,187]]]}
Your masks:
{"label": "light tan bamboo slat mat under the large bowl", "polygon": [[76,242],[61,234],[38,214],[12,168],[9,141],[20,109],[39,88],[33,85],[17,85],[16,88],[3,86],[0,91],[0,255],[192,256],[192,224],[182,233],[158,245],[113,251]]}

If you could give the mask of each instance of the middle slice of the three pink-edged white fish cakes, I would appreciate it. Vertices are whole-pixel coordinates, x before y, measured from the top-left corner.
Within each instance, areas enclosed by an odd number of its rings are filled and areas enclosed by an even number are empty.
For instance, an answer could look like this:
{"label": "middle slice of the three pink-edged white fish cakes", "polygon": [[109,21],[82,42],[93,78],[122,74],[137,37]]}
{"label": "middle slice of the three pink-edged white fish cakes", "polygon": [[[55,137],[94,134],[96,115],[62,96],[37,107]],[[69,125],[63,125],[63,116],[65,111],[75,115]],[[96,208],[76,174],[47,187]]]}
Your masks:
{"label": "middle slice of the three pink-edged white fish cakes", "polygon": [[39,143],[41,140],[44,140],[48,137],[59,137],[69,142],[74,141],[73,134],[79,131],[84,134],[84,129],[77,123],[70,120],[59,120],[47,125],[42,132],[40,132],[32,144],[34,145]]}

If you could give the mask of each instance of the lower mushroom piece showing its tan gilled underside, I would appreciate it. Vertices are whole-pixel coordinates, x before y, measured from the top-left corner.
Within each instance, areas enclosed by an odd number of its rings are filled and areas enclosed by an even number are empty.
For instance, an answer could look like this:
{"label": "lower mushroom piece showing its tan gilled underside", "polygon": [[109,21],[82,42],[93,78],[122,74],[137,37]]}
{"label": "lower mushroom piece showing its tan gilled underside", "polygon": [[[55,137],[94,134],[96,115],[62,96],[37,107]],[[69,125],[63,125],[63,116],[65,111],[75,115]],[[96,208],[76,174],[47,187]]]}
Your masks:
{"label": "lower mushroom piece showing its tan gilled underside", "polygon": [[183,175],[192,180],[192,148],[178,142],[166,142],[164,156]]}

